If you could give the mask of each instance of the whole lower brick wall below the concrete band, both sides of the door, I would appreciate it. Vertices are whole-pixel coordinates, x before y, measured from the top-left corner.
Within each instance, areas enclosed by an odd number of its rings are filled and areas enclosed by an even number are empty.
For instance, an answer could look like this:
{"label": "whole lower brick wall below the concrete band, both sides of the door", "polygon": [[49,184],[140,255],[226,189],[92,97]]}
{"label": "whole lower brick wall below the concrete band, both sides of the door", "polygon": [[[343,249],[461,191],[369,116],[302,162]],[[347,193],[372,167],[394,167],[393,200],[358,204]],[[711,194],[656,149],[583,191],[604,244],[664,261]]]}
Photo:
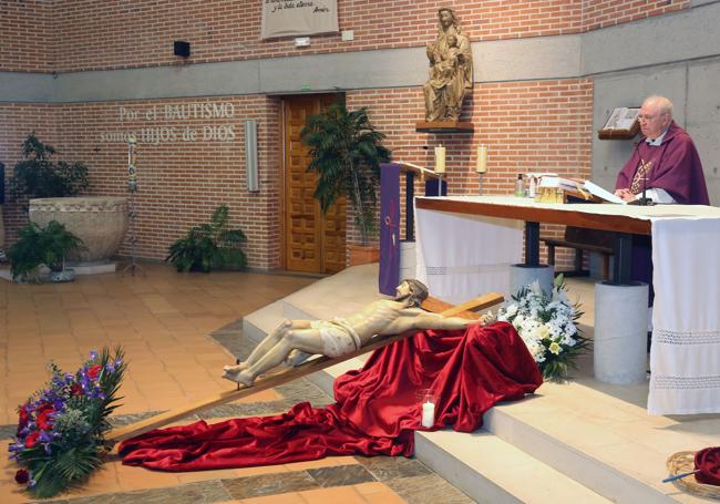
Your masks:
{"label": "whole lower brick wall below the concrete band, both sides of the door", "polygon": [[[475,150],[488,145],[486,194],[507,194],[515,174],[554,171],[587,178],[590,173],[593,85],[587,80],[476,85],[463,120],[473,135],[426,135],[414,131],[423,115],[419,89],[369,90],[347,95],[350,109],[369,106],[371,120],[388,135],[394,160],[433,166],[432,147],[448,148],[451,194],[475,194]],[[476,106],[482,103],[483,106]],[[232,105],[232,117],[204,119],[205,104]],[[68,161],[90,168],[91,193],[126,194],[124,134],[138,137],[137,254],[161,259],[167,246],[226,203],[232,223],[248,235],[250,265],[279,265],[281,198],[279,101],[265,96],[162,100],[59,105],[3,105],[0,157],[9,171],[20,157],[24,135],[35,130]],[[169,111],[169,112],[166,112]],[[194,112],[199,111],[199,112]],[[167,115],[169,113],[169,115]],[[188,119],[179,119],[177,114]],[[258,121],[261,191],[246,189],[243,120]],[[60,127],[62,125],[62,127]],[[214,127],[213,127],[214,126]],[[228,127],[233,128],[229,138]],[[185,141],[186,132],[195,141]],[[226,140],[219,137],[226,132]],[[214,134],[214,136],[213,136]],[[212,137],[206,137],[212,136]],[[420,148],[426,145],[430,150]],[[10,240],[24,223],[18,205],[8,205]],[[360,243],[352,218],[348,241]],[[121,249],[127,254],[127,246]]]}

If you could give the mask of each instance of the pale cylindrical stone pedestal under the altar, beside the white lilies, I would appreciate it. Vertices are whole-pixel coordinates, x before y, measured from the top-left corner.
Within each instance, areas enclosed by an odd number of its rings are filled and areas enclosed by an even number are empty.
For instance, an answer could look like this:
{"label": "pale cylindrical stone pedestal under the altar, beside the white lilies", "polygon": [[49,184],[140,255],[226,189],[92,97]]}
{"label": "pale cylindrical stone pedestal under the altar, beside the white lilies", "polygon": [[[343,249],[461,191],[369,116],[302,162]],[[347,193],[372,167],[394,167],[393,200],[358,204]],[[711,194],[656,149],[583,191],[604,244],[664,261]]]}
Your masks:
{"label": "pale cylindrical stone pedestal under the altar, beside the white lilies", "polygon": [[595,284],[595,378],[605,383],[645,380],[648,285]]}

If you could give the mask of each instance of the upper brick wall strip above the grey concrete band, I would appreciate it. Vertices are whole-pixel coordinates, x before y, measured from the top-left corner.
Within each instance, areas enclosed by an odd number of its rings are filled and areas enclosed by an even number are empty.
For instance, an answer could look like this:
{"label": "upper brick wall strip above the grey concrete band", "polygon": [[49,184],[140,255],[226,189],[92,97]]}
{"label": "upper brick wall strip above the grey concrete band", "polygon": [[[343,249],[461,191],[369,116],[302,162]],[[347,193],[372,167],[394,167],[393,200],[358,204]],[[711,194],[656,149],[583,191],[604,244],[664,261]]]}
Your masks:
{"label": "upper brick wall strip above the grey concrete band", "polygon": [[[689,0],[457,0],[471,40],[576,33],[686,8]],[[0,70],[81,71],[183,64],[173,41],[192,43],[188,62],[424,45],[436,33],[433,0],[338,0],[339,34],[260,40],[260,0],[0,0]]]}

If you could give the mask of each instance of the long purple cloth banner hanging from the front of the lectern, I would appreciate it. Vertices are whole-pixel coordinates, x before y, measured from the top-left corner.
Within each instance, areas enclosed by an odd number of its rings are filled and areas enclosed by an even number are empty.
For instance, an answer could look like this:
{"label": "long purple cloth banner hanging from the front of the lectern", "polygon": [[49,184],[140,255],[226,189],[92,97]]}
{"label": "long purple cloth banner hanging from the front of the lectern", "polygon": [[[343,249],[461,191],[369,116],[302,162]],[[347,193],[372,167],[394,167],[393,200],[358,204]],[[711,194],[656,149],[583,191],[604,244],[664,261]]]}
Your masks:
{"label": "long purple cloth banner hanging from the front of the lectern", "polygon": [[380,292],[394,296],[399,282],[400,165],[383,163],[380,165]]}

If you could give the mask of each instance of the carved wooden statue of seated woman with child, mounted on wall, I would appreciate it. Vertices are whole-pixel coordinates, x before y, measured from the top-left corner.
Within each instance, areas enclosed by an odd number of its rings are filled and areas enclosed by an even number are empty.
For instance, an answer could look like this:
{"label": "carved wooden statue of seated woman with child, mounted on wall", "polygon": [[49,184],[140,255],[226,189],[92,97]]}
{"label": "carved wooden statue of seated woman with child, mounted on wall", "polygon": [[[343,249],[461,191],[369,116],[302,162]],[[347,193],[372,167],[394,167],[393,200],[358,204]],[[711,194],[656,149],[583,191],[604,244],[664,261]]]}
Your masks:
{"label": "carved wooden statue of seated woman with child, mounted on wall", "polygon": [[453,10],[440,9],[438,18],[438,38],[428,43],[425,121],[457,121],[463,99],[473,88],[473,54]]}

